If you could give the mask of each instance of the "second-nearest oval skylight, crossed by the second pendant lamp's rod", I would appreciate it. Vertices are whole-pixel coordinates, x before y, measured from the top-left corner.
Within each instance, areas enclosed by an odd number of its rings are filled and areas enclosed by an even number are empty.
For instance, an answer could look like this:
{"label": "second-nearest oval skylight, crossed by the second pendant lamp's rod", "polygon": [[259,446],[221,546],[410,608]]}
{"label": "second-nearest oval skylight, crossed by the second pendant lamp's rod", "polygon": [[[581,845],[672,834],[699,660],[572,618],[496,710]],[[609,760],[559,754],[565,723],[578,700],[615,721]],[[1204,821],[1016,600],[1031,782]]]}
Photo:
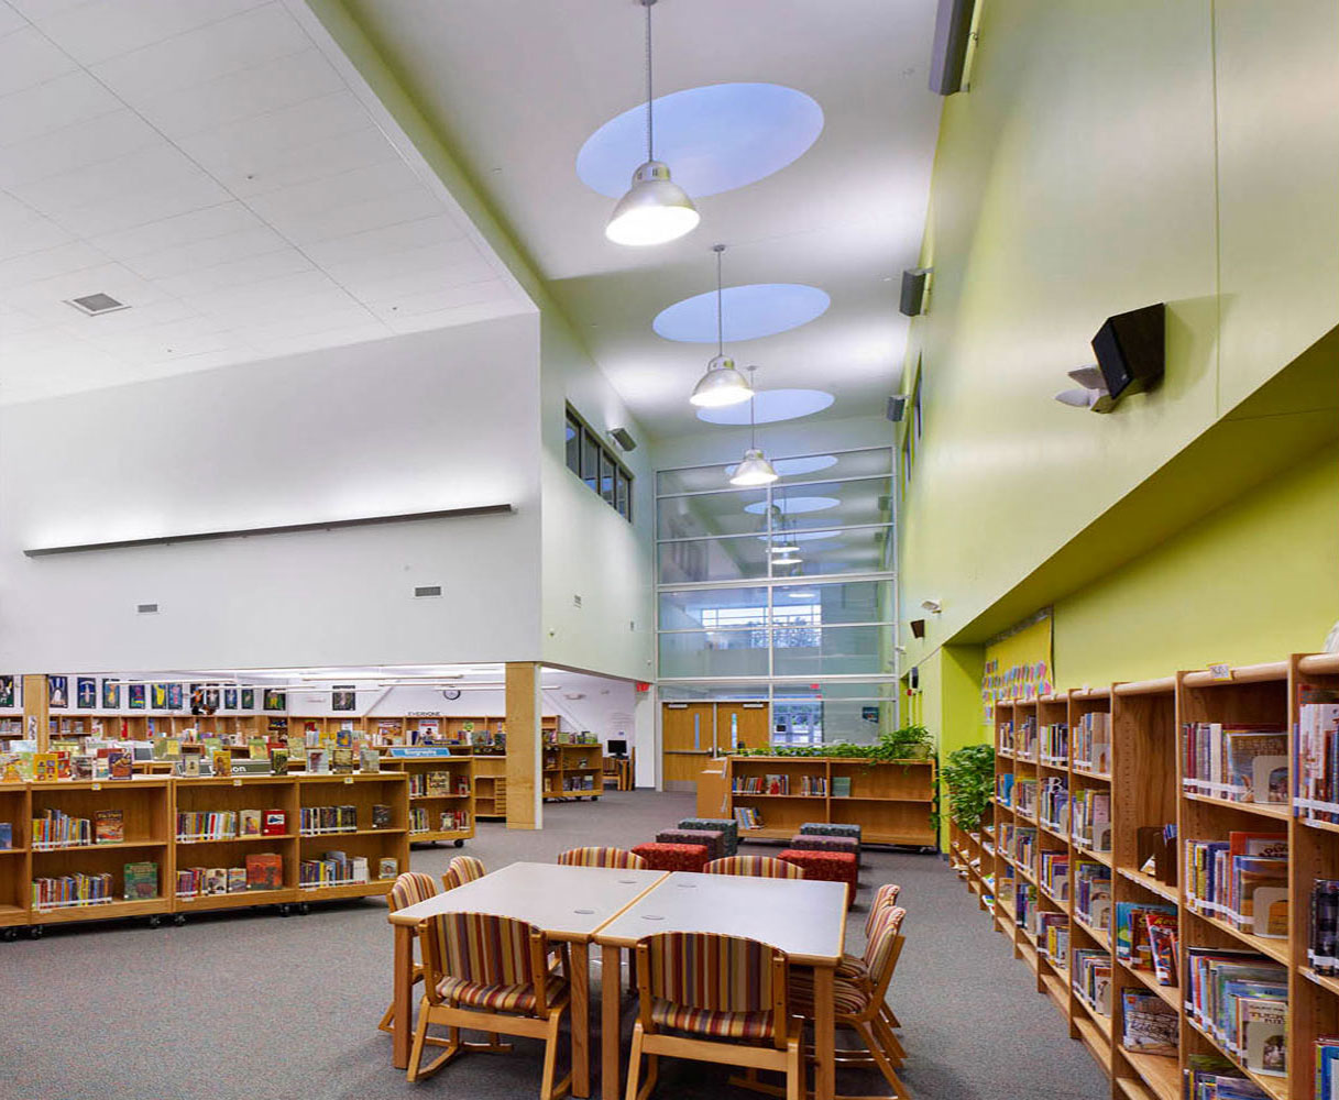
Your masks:
{"label": "second-nearest oval skylight, crossed by the second pendant lamp's rod", "polygon": [[[802,282],[753,282],[727,286],[722,294],[727,344],[775,336],[828,312],[832,298]],[[686,344],[716,343],[716,292],[707,290],[661,309],[651,327],[665,340]]]}

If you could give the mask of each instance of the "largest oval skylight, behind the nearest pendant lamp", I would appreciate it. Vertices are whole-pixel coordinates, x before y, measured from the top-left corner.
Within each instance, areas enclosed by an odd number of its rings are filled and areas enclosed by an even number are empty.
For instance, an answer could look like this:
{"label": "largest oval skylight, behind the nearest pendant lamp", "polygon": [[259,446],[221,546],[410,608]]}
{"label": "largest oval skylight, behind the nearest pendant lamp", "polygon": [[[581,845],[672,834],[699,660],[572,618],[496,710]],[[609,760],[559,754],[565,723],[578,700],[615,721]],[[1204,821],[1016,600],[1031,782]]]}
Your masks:
{"label": "largest oval skylight, behind the nearest pendant lamp", "polygon": [[[577,153],[581,182],[609,198],[647,159],[647,104],[596,130]],[[655,100],[656,159],[692,198],[757,183],[798,159],[823,128],[823,110],[781,84],[707,84]]]}

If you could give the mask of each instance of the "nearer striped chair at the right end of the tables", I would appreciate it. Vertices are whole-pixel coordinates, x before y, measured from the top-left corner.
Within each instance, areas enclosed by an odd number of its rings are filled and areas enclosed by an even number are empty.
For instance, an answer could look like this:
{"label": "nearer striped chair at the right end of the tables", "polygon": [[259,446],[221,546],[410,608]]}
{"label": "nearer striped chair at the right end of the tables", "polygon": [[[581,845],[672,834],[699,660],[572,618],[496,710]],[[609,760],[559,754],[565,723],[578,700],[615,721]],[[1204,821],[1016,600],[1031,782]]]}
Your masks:
{"label": "nearer striped chair at the right end of the tables", "polygon": [[[897,1076],[896,1067],[902,1064],[905,1052],[882,1010],[888,996],[888,984],[897,969],[902,953],[902,919],[905,909],[885,907],[874,918],[873,933],[865,947],[865,966],[869,981],[858,982],[838,977],[834,981],[836,1022],[838,1028],[856,1032],[865,1044],[865,1050],[838,1050],[838,1061],[848,1065],[874,1065],[893,1088],[893,1096],[907,1097],[907,1087]],[[814,978],[813,972],[797,972],[790,981],[790,1010],[806,1020],[814,1018]]]}

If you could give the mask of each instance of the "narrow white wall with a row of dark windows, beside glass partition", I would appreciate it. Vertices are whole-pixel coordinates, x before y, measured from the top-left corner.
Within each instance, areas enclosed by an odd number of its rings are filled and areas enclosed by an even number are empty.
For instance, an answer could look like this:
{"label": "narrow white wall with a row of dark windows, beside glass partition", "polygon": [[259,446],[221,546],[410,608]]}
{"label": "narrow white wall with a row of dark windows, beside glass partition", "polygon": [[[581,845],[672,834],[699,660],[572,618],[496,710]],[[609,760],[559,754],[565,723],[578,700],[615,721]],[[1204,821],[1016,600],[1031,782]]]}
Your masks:
{"label": "narrow white wall with a row of dark windows, beside glass partition", "polygon": [[[553,309],[542,320],[544,660],[633,680],[655,674],[653,486],[645,434]],[[566,468],[564,405],[596,431],[628,428],[628,523]],[[608,439],[608,436],[605,435]],[[577,608],[573,597],[581,597]]]}

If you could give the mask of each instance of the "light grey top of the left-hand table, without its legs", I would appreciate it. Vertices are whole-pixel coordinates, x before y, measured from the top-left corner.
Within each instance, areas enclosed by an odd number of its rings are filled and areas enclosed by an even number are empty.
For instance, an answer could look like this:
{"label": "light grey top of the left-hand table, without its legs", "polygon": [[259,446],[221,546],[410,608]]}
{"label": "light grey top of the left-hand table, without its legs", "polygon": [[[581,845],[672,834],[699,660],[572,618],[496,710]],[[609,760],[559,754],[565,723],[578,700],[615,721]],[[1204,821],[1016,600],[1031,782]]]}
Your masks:
{"label": "light grey top of the left-hand table, without its legs", "polygon": [[664,871],[511,863],[396,910],[391,923],[416,925],[442,913],[489,913],[528,921],[554,939],[588,939],[665,877]]}

